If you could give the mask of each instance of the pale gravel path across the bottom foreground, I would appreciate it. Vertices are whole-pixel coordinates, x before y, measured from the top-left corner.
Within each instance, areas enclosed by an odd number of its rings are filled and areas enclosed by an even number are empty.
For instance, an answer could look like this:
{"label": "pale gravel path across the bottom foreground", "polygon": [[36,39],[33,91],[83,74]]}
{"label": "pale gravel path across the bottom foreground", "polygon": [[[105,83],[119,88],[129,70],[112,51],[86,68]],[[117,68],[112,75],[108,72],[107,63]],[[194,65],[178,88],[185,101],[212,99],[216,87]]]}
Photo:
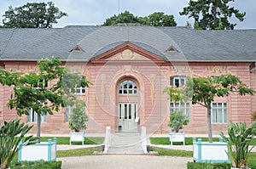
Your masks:
{"label": "pale gravel path across the bottom foreground", "polygon": [[193,158],[155,155],[90,155],[62,157],[57,161],[62,161],[62,169],[183,169],[187,168],[187,162],[193,161]]}

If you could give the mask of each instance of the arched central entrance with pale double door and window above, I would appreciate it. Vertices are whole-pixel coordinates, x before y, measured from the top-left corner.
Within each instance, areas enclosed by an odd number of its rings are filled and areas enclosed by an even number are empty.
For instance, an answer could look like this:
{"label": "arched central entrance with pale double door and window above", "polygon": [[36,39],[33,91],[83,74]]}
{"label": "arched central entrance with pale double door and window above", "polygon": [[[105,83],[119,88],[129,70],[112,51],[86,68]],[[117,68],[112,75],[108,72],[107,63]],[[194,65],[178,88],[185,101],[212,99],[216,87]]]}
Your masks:
{"label": "arched central entrance with pale double door and window above", "polygon": [[137,132],[140,93],[135,79],[126,77],[119,81],[117,104],[119,132]]}

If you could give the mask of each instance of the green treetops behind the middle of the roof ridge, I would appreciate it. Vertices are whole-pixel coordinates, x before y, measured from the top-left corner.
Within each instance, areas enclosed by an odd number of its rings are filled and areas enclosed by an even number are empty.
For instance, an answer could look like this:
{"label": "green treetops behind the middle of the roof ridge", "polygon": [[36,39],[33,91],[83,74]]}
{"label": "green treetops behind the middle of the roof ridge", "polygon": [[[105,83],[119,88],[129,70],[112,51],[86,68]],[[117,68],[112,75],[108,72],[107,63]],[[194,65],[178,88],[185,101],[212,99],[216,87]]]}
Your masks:
{"label": "green treetops behind the middle of the roof ridge", "polygon": [[172,14],[168,15],[168,14],[164,14],[163,12],[155,12],[145,17],[137,17],[134,14],[131,14],[129,11],[125,11],[118,15],[114,14],[112,17],[106,19],[106,21],[102,25],[105,25],[105,26],[121,25],[121,24],[131,25],[131,23],[133,25],[151,25],[151,26],[176,26],[177,25]]}

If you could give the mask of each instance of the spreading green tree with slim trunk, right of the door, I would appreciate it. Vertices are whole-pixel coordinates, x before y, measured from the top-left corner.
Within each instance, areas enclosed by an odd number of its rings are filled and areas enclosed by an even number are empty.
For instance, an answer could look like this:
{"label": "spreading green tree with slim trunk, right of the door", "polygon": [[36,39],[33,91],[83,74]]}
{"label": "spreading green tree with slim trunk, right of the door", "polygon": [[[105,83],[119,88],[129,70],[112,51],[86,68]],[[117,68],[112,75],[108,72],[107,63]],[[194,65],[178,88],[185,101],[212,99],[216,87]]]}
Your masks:
{"label": "spreading green tree with slim trunk, right of the door", "polygon": [[232,75],[214,77],[189,78],[185,87],[166,87],[163,91],[169,95],[171,101],[187,101],[192,99],[192,104],[200,104],[207,108],[208,139],[212,143],[212,102],[216,97],[229,96],[230,93],[239,95],[255,93],[241,80]]}

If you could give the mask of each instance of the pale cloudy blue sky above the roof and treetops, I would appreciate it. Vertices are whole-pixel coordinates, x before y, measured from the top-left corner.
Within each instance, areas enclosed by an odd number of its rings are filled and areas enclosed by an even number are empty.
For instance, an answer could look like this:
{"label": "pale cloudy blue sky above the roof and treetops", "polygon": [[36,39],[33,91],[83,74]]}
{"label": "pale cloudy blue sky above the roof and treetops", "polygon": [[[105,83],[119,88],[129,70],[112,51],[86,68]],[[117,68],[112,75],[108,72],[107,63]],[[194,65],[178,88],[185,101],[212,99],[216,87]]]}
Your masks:
{"label": "pale cloudy blue sky above the roof and treetops", "polygon": [[[50,0],[49,0],[50,1]],[[41,3],[49,1],[40,0],[0,0],[0,15],[2,16],[9,6],[20,7],[26,3]],[[55,28],[66,25],[102,25],[103,22],[125,10],[136,16],[148,16],[154,12],[173,14],[177,26],[184,26],[187,21],[194,23],[188,16],[181,16],[178,13],[188,6],[189,0],[51,0],[61,11],[68,14],[62,17]],[[229,3],[240,12],[246,12],[245,20],[240,22],[232,18],[237,25],[235,29],[256,29],[256,0],[236,0]],[[3,17],[0,25],[2,25]]]}

